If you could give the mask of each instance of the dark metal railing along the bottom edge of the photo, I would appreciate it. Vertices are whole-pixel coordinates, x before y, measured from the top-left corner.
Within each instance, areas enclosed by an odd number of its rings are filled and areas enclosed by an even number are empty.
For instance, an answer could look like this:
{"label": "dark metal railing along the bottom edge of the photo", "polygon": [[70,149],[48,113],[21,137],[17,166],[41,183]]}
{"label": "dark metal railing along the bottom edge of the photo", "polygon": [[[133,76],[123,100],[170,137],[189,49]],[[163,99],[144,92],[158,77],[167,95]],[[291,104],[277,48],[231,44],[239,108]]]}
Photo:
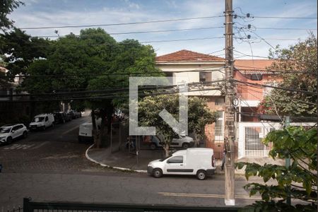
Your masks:
{"label": "dark metal railing along the bottom edge of the photo", "polygon": [[201,212],[201,211],[238,211],[238,207],[200,207],[141,204],[86,204],[76,202],[35,202],[23,199],[23,212]]}

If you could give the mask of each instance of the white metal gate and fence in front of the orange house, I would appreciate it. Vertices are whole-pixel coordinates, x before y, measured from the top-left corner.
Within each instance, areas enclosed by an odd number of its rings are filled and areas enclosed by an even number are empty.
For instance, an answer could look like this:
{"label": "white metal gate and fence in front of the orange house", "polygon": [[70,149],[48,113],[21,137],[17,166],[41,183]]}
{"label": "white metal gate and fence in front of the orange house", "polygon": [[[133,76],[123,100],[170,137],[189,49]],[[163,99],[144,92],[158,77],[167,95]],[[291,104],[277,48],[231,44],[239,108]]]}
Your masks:
{"label": "white metal gate and fence in front of the orange house", "polygon": [[[290,123],[292,126],[302,126],[310,129],[317,123]],[[317,126],[316,126],[317,127]],[[282,129],[283,126],[277,122],[239,122],[238,135],[238,158],[244,157],[268,157],[271,143],[265,146],[261,142],[270,131]]]}

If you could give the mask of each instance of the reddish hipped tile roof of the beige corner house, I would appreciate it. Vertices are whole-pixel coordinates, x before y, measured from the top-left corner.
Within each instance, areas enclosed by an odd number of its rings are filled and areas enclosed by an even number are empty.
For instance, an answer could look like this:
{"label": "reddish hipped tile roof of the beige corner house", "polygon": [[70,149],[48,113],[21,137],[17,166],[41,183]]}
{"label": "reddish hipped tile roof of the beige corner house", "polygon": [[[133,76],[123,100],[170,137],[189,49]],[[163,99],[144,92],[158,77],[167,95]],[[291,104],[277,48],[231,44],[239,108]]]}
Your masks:
{"label": "reddish hipped tile roof of the beige corner house", "polygon": [[162,56],[158,56],[155,58],[157,62],[165,62],[165,61],[225,61],[225,59],[221,57],[216,57],[209,54],[201,54],[198,52],[192,52],[189,50],[181,50],[178,52],[172,52],[170,54],[165,54]]}

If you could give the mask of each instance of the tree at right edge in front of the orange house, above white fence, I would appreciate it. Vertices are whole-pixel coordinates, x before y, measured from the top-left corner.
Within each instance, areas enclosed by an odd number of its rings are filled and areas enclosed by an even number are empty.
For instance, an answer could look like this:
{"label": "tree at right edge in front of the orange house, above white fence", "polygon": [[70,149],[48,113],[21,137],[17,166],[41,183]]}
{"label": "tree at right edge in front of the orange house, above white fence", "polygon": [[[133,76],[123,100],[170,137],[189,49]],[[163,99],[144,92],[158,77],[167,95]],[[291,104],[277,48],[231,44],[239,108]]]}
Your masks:
{"label": "tree at right edge in front of the orange house, above white fence", "polygon": [[[273,89],[259,105],[266,114],[311,116],[317,112],[317,37],[310,35],[305,41],[271,52],[276,59],[270,70],[286,71],[278,87],[290,91]],[[302,90],[305,92],[295,92]],[[312,94],[311,94],[312,93]]]}

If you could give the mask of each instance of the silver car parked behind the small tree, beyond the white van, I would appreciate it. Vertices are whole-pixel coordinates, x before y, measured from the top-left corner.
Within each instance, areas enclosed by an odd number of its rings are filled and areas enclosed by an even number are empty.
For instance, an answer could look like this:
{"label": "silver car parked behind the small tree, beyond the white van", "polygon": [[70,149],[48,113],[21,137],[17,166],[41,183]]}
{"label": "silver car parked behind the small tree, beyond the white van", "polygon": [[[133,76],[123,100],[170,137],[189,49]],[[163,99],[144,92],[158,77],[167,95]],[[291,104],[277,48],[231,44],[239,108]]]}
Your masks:
{"label": "silver car parked behind the small tree, beyond the white van", "polygon": [[[151,149],[155,149],[161,147],[162,136],[151,136],[151,141],[149,142],[149,147]],[[170,147],[182,147],[182,148],[189,148],[194,146],[194,140],[189,136],[179,136],[175,134],[174,138],[170,143]]]}

